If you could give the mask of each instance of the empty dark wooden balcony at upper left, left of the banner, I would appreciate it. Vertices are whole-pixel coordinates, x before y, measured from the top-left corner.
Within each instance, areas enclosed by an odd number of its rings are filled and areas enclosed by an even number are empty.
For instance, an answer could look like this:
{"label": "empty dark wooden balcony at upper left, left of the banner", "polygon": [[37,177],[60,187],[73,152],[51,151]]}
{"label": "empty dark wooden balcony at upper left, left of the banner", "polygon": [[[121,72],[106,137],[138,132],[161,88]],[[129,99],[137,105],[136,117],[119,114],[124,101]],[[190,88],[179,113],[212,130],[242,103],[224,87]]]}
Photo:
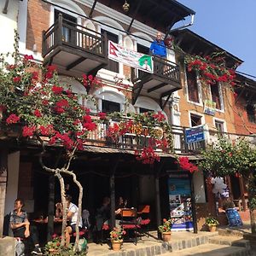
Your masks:
{"label": "empty dark wooden balcony at upper left, left of the banner", "polygon": [[108,41],[100,34],[84,26],[58,20],[43,32],[42,55],[44,65],[55,64],[61,73],[96,75],[108,65]]}

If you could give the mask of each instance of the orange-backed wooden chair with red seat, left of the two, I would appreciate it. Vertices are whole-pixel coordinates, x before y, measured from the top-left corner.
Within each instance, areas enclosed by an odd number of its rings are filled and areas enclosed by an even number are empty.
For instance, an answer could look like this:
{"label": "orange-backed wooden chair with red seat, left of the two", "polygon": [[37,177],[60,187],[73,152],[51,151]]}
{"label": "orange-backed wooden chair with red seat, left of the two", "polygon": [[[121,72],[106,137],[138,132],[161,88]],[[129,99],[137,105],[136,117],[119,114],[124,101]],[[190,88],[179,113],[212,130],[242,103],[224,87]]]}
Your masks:
{"label": "orange-backed wooden chair with red seat, left of the two", "polygon": [[137,230],[141,228],[139,224],[139,220],[137,219],[137,209],[127,208],[121,209],[121,227],[127,231],[127,236],[130,236],[130,230],[133,230],[134,239],[129,237],[129,240],[134,241],[135,245],[137,245]]}

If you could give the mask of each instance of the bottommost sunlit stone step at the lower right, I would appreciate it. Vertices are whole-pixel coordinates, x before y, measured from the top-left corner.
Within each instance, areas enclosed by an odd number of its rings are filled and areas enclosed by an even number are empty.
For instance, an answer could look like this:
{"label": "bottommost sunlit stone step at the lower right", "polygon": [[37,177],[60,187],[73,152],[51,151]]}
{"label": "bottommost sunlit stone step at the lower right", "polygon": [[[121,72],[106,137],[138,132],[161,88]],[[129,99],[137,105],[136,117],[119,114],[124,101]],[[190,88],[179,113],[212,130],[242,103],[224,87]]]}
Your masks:
{"label": "bottommost sunlit stone step at the lower right", "polygon": [[203,244],[198,247],[183,249],[174,253],[164,253],[162,256],[248,256],[247,248],[219,244]]}

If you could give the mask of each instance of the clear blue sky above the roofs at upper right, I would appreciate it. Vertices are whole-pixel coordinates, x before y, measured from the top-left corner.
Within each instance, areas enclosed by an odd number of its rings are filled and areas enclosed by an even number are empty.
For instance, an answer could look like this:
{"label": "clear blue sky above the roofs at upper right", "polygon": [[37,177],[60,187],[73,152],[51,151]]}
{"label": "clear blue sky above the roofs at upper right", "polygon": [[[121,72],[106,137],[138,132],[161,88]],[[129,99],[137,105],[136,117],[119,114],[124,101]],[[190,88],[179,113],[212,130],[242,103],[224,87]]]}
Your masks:
{"label": "clear blue sky above the roofs at upper right", "polygon": [[256,77],[256,0],[177,1],[196,13],[190,30],[236,55],[244,61],[237,70]]}

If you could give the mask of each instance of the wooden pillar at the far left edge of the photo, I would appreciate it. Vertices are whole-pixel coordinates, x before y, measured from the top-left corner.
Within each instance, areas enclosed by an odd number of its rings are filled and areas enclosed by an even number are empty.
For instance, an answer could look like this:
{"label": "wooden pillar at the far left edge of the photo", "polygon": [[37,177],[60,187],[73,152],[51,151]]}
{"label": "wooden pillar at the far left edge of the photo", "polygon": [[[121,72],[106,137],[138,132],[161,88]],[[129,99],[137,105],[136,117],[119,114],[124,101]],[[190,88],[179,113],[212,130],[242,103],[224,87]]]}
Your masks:
{"label": "wooden pillar at the far left edge of the photo", "polygon": [[4,205],[7,183],[8,151],[0,150],[0,238],[3,237]]}

